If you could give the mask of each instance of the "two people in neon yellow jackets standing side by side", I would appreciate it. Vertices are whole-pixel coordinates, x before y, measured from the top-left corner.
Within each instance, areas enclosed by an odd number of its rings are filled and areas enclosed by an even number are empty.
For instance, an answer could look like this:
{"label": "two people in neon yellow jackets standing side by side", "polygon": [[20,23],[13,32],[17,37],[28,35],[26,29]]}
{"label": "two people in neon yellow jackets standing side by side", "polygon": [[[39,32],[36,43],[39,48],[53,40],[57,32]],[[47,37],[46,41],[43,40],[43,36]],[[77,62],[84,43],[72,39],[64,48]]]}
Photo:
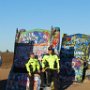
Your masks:
{"label": "two people in neon yellow jackets standing side by side", "polygon": [[57,78],[60,71],[59,57],[54,53],[52,47],[48,48],[48,54],[43,56],[41,62],[35,58],[34,53],[31,53],[30,59],[25,66],[30,76],[30,90],[33,90],[35,74],[38,74],[41,78],[41,87],[51,86],[53,81],[55,90],[58,90]]}

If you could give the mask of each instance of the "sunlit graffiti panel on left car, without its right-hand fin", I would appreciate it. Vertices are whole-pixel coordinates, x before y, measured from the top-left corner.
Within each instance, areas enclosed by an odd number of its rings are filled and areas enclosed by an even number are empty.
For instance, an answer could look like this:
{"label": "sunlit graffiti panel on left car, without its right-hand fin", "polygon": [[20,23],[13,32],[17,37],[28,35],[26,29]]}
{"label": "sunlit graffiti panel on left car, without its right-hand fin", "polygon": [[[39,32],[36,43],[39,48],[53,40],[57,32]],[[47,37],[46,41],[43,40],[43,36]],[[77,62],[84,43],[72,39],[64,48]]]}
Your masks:
{"label": "sunlit graffiti panel on left car, without its right-hand fin", "polygon": [[16,39],[16,43],[32,44],[33,52],[41,60],[41,56],[47,53],[47,48],[50,45],[50,31],[43,29],[23,30],[16,34]]}

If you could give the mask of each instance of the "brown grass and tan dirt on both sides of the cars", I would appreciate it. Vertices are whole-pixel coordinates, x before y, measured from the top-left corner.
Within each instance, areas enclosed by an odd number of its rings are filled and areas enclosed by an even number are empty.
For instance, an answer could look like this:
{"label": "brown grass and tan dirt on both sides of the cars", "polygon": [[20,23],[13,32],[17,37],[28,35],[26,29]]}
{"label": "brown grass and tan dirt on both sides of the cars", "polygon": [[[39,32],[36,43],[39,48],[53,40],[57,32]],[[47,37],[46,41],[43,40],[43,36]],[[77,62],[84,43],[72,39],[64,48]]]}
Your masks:
{"label": "brown grass and tan dirt on both sides of the cars", "polygon": [[[13,63],[13,53],[2,53],[3,64],[0,67],[0,90],[5,90],[7,78]],[[85,79],[83,83],[71,84],[64,90],[90,90],[90,80]]]}

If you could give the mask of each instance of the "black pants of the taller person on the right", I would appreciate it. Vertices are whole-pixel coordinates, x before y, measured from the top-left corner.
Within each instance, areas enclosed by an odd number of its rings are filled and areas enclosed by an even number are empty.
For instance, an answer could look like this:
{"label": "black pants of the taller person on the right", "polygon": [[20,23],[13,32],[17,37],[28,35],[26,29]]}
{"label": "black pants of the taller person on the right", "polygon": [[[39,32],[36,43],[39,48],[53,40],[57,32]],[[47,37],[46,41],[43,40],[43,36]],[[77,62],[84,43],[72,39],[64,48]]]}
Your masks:
{"label": "black pants of the taller person on the right", "polygon": [[58,86],[58,73],[56,70],[47,69],[46,72],[41,74],[42,84],[46,84],[47,86],[51,85],[51,82],[54,81],[55,90],[59,90]]}

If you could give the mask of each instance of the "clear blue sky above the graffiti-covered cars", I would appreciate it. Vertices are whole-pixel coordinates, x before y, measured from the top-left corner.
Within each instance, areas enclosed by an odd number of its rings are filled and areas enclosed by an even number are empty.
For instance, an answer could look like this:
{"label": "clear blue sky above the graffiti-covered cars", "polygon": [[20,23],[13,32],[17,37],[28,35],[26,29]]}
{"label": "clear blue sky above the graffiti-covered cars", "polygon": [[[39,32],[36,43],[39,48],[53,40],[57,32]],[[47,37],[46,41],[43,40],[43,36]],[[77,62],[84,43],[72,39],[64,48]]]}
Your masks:
{"label": "clear blue sky above the graffiti-covered cars", "polygon": [[16,28],[90,34],[90,0],[0,0],[0,50],[14,50]]}

